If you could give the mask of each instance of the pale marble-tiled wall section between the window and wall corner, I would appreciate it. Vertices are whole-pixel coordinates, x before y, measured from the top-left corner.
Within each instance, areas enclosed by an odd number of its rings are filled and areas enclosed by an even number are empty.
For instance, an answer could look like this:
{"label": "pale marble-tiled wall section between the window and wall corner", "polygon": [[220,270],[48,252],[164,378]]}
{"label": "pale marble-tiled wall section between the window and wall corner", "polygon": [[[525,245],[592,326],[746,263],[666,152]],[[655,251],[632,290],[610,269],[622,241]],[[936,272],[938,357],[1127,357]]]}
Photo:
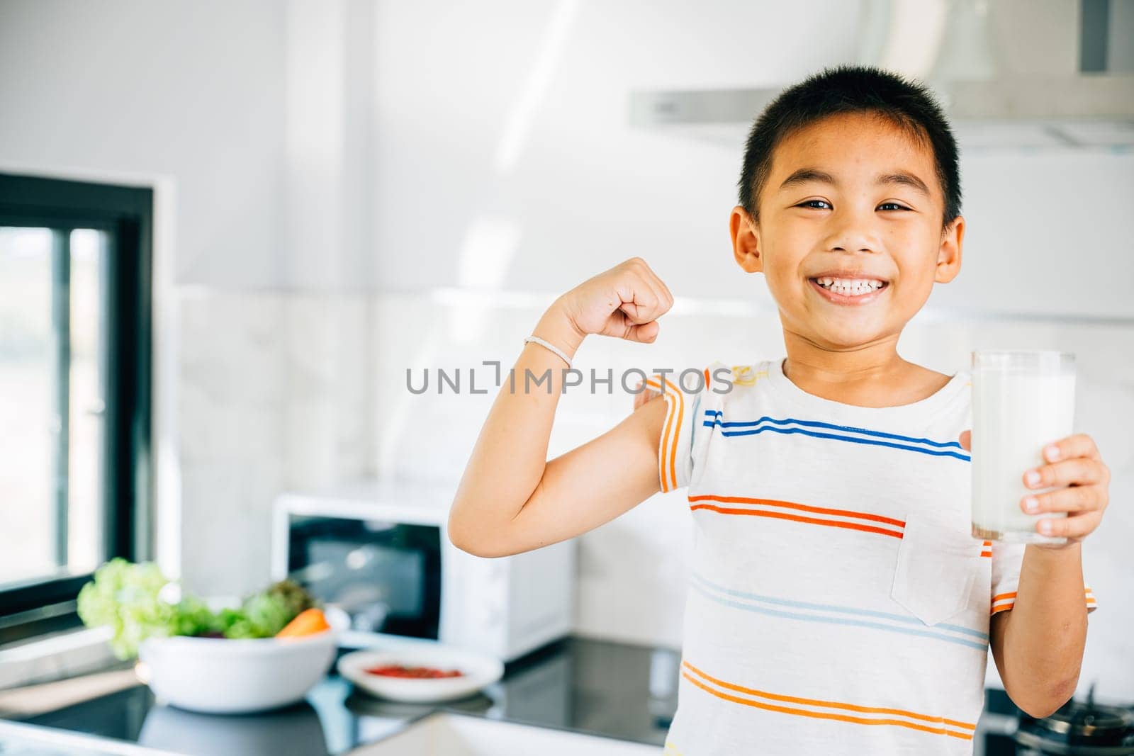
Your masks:
{"label": "pale marble-tiled wall section between the window and wall corner", "polygon": [[371,464],[370,303],[215,291],[178,306],[181,575],[243,594],[270,579],[276,496]]}

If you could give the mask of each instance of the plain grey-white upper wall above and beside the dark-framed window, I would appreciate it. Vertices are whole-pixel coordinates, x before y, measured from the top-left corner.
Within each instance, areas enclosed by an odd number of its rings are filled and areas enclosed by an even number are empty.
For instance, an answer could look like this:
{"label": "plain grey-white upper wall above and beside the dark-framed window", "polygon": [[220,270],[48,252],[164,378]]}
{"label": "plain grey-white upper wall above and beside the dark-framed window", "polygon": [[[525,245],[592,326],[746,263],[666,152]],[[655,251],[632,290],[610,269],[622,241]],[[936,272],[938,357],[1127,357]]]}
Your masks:
{"label": "plain grey-white upper wall above and beside the dark-framed window", "polygon": [[273,0],[6,0],[0,164],[170,177],[177,282],[277,286],[284,22]]}

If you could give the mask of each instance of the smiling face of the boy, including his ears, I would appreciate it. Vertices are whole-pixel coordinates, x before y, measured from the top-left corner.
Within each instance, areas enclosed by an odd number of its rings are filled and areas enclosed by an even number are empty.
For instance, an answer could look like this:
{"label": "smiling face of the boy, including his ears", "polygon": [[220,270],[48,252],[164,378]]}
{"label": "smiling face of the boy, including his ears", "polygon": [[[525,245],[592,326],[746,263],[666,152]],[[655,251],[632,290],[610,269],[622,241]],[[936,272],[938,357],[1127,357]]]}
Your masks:
{"label": "smiling face of the boy, including his ears", "polygon": [[[896,339],[933,282],[960,270],[964,220],[942,232],[932,148],[880,117],[832,116],[784,139],[758,202],[759,224],[739,205],[729,219],[736,261],[764,274],[785,330],[820,348]],[[823,288],[824,277],[882,286]]]}

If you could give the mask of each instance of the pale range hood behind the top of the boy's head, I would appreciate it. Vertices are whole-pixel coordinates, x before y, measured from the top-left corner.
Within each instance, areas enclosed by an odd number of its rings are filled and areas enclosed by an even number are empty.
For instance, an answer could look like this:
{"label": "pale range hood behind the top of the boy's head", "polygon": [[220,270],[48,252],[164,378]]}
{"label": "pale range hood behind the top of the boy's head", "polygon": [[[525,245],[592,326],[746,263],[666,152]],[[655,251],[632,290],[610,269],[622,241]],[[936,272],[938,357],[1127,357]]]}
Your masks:
{"label": "pale range hood behind the top of the boy's head", "polygon": [[[858,41],[933,90],[965,153],[1134,150],[1132,0],[863,0]],[[631,124],[738,147],[790,84],[634,91]]]}

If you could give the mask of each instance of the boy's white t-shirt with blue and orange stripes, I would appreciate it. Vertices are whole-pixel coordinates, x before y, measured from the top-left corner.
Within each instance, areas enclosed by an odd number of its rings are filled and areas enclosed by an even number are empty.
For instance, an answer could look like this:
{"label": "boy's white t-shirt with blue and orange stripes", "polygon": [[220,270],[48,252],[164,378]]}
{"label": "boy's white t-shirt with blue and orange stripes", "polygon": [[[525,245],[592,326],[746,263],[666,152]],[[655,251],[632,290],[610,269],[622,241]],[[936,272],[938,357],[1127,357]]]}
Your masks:
{"label": "boy's white t-shirt with blue and orange stripes", "polygon": [[695,526],[667,756],[972,753],[1024,546],[971,534],[970,373],[881,408],[781,359],[702,377],[667,377],[659,444]]}

